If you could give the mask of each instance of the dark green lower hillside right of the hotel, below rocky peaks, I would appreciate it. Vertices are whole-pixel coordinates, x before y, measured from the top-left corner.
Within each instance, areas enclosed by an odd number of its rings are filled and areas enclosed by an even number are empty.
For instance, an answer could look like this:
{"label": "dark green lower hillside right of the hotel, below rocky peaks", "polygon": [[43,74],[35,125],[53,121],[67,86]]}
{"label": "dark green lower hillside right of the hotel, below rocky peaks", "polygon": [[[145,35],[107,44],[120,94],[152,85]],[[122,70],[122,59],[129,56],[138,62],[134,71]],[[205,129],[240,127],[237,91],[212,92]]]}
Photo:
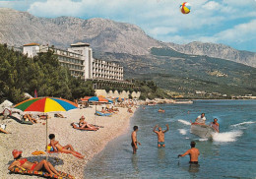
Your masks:
{"label": "dark green lower hillside right of the hotel, below rocky peaks", "polygon": [[98,53],[121,63],[125,78],[154,81],[162,89],[191,96],[196,90],[227,95],[256,95],[256,69],[228,60],[152,48],[152,55]]}

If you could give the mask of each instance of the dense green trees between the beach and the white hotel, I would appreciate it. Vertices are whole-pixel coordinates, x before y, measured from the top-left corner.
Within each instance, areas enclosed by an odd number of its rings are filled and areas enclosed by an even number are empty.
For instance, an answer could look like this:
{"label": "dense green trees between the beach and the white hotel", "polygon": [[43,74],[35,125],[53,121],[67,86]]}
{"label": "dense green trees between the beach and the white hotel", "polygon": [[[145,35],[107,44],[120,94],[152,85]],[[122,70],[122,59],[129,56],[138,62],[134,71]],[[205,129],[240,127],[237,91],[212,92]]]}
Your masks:
{"label": "dense green trees between the beach and the white hotel", "polygon": [[[0,100],[14,103],[25,99],[24,92],[38,96],[63,97],[73,100],[94,95],[91,83],[85,83],[70,75],[60,66],[53,52],[28,58],[20,52],[9,50],[0,44]],[[0,101],[0,102],[1,102]]]}

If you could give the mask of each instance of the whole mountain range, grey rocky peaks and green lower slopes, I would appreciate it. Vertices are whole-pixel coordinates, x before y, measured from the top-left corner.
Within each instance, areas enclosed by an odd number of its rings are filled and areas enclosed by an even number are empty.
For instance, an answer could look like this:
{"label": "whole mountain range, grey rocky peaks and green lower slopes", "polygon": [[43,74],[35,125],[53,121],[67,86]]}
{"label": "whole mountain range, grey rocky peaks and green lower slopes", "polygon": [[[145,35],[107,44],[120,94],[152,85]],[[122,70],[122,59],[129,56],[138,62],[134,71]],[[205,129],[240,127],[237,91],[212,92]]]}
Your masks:
{"label": "whole mountain range, grey rocky peaks and green lower slopes", "polygon": [[38,18],[0,8],[1,43],[22,46],[36,42],[66,48],[78,41],[90,43],[96,58],[121,63],[126,78],[154,80],[163,89],[229,90],[229,94],[256,91],[254,52],[216,43],[162,42],[138,26],[106,19]]}

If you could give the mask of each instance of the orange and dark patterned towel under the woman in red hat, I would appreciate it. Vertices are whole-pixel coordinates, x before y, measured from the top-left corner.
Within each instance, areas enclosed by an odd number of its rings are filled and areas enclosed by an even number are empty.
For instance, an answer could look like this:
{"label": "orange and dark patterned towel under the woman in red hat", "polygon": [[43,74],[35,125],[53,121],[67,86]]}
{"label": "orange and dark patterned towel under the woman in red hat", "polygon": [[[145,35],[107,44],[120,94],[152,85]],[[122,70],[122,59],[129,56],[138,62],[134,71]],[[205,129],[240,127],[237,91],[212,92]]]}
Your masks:
{"label": "orange and dark patterned towel under the woman in red hat", "polygon": [[40,177],[44,177],[44,178],[52,178],[52,179],[75,179],[74,176],[71,176],[65,172],[62,171],[58,171],[61,176],[57,176],[57,175],[51,175],[49,176],[49,173],[44,172],[44,171],[34,171],[34,170],[22,170],[20,168],[18,168],[17,166],[13,167],[10,170],[11,173],[16,173],[16,174],[22,174],[22,175],[35,175],[35,176],[40,176]]}

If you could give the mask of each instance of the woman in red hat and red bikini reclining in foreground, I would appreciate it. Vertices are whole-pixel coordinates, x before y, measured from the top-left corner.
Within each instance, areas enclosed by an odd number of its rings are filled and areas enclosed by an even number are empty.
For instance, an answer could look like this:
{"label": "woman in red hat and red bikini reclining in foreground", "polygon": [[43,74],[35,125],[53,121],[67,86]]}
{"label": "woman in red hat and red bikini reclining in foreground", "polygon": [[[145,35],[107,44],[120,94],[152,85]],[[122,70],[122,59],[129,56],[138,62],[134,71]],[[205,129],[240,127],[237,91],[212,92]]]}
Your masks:
{"label": "woman in red hat and red bikini reclining in foreground", "polygon": [[39,162],[31,162],[27,158],[22,158],[22,152],[23,151],[19,151],[17,149],[13,150],[13,156],[15,160],[8,167],[9,170],[12,170],[15,166],[22,170],[29,169],[33,171],[39,171],[44,168],[47,170],[50,176],[53,174],[60,176],[58,171],[53,167],[50,162],[46,161],[45,159],[42,159]]}

